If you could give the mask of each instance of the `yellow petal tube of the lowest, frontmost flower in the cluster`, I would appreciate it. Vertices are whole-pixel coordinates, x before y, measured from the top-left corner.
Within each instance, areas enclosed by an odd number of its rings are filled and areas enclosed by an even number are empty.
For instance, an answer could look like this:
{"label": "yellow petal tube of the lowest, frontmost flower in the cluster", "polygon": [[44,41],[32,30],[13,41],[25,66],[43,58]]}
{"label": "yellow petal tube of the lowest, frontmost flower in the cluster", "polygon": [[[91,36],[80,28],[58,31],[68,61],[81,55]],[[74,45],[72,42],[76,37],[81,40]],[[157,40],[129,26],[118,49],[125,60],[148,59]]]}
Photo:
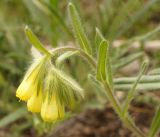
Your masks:
{"label": "yellow petal tube of the lowest, frontmost flower in the cluster", "polygon": [[52,122],[64,116],[64,106],[58,106],[56,98],[49,100],[46,96],[41,108],[41,117],[46,122]]}

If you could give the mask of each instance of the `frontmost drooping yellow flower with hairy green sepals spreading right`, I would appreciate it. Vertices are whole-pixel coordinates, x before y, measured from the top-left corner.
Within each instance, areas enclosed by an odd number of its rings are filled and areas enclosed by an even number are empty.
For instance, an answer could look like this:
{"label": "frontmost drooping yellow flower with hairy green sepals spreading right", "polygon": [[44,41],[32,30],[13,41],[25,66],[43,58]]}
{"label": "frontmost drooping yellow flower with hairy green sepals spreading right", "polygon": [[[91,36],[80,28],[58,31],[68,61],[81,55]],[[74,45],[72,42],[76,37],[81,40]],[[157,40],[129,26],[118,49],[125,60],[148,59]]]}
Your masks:
{"label": "frontmost drooping yellow flower with hairy green sepals spreading right", "polygon": [[52,66],[45,79],[44,93],[41,117],[52,122],[63,118],[65,106],[74,106],[78,96],[82,96],[82,89],[73,79]]}

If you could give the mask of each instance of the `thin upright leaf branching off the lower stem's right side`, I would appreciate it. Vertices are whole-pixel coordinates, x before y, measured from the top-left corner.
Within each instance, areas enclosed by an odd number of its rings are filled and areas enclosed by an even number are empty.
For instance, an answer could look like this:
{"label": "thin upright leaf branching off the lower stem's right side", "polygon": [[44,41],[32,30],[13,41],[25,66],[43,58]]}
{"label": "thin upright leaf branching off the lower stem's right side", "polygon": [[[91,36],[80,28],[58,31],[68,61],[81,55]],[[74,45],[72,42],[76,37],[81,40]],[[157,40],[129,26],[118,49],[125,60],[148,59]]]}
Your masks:
{"label": "thin upright leaf branching off the lower stem's right side", "polygon": [[129,91],[128,95],[127,95],[127,98],[126,98],[126,100],[124,102],[124,107],[123,107],[123,112],[122,112],[123,115],[126,115],[127,112],[128,112],[129,105],[130,105],[130,103],[131,103],[131,101],[132,101],[132,99],[134,97],[135,92],[136,92],[136,87],[137,87],[142,75],[146,72],[147,66],[148,66],[148,62],[144,62],[142,64],[142,67],[141,67],[141,70],[140,70],[140,72],[138,74],[137,80],[135,81],[135,83],[133,84],[132,88],[130,89],[130,91]]}

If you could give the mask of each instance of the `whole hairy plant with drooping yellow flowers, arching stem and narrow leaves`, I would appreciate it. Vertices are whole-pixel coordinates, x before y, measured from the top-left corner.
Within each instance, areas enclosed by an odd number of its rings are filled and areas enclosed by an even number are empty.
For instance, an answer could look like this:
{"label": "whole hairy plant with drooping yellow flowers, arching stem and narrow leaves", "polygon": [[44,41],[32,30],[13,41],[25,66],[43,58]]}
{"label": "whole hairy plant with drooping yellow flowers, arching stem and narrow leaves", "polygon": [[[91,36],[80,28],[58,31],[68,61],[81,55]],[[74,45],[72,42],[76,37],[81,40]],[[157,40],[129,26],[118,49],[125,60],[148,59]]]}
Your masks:
{"label": "whole hairy plant with drooping yellow flowers, arching stem and narrow leaves", "polygon": [[[78,54],[82,59],[90,63],[94,73],[90,74],[89,78],[91,78],[96,86],[100,87],[99,89],[103,88],[104,94],[112,104],[113,109],[122,123],[137,137],[155,137],[160,129],[160,107],[158,107],[155,117],[153,118],[148,135],[145,135],[145,133],[136,126],[128,112],[138,83],[146,79],[147,82],[151,81],[149,80],[150,76],[145,75],[148,61],[142,64],[138,76],[133,79],[131,88],[129,92],[126,93],[126,99],[120,102],[114,95],[116,85],[112,75],[108,41],[103,37],[98,28],[96,28],[96,49],[93,49],[95,47],[91,47],[91,42],[85,34],[79,15],[72,3],[69,3],[69,15],[74,35],[77,38],[80,48],[65,46],[47,50],[33,32],[28,27],[25,28],[28,40],[42,54],[33,60],[32,65],[29,67],[23,81],[17,89],[16,96],[20,100],[27,102],[29,111],[40,113],[44,121],[53,122],[62,119],[65,115],[65,107],[73,108],[75,102],[83,98],[84,95],[83,89],[79,84],[65,74],[58,66],[60,66],[59,64],[61,64],[64,59]],[[150,34],[152,33],[153,32]],[[95,54],[93,51],[96,51],[97,57],[93,55]],[[64,54],[58,57],[59,53]],[[143,79],[141,79],[141,77],[143,77]],[[145,81],[143,83],[145,83]]]}

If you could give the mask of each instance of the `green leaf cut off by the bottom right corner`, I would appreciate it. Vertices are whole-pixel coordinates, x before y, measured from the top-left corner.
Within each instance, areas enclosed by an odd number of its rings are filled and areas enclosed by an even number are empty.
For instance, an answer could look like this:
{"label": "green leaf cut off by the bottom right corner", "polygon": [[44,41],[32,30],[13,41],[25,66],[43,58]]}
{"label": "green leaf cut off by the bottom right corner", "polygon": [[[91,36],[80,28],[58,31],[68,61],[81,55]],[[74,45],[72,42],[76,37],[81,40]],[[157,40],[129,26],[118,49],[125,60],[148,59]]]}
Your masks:
{"label": "green leaf cut off by the bottom right corner", "polygon": [[158,106],[157,112],[152,120],[148,137],[155,137],[160,130],[160,105]]}

